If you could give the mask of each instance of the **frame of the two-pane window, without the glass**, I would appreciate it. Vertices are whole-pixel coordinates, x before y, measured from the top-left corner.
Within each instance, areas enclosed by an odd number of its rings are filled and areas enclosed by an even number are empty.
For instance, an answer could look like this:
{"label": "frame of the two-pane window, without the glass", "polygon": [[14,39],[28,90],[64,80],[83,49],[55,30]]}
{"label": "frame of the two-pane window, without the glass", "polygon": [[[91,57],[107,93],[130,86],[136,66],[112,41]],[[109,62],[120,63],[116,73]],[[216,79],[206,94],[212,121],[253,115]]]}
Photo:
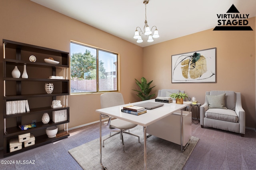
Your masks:
{"label": "frame of the two-pane window, without the glass", "polygon": [[[96,92],[71,92],[71,55],[73,55],[71,53],[71,43],[73,44],[76,44],[76,45],[81,45],[81,46],[84,46],[84,47],[88,47],[88,48],[92,48],[92,49],[96,49],[96,64],[97,64],[97,69],[96,69]],[[99,91],[99,80],[100,80],[100,77],[99,77],[99,51],[102,51],[102,52],[106,52],[106,53],[110,53],[110,54],[114,54],[116,55],[116,90],[107,90],[107,91]],[[113,52],[113,51],[110,51],[110,50],[106,50],[106,49],[102,49],[102,48],[99,48],[99,47],[94,47],[92,45],[88,45],[88,44],[85,44],[85,43],[80,43],[78,41],[73,41],[73,40],[70,40],[70,95],[78,95],[78,94],[96,94],[96,93],[106,93],[106,92],[119,92],[120,89],[119,89],[119,85],[120,85],[120,69],[119,69],[119,60],[120,60],[120,54],[119,53],[116,53],[116,52]]]}

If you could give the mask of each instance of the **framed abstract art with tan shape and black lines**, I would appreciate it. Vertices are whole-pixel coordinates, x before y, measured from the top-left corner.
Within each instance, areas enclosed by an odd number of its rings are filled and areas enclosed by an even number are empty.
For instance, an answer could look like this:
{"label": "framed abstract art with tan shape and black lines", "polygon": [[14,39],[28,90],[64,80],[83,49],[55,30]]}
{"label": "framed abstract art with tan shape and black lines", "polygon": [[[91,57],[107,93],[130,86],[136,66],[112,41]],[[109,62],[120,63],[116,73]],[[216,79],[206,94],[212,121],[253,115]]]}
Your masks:
{"label": "framed abstract art with tan shape and black lines", "polygon": [[172,55],[172,83],[216,83],[216,47]]}

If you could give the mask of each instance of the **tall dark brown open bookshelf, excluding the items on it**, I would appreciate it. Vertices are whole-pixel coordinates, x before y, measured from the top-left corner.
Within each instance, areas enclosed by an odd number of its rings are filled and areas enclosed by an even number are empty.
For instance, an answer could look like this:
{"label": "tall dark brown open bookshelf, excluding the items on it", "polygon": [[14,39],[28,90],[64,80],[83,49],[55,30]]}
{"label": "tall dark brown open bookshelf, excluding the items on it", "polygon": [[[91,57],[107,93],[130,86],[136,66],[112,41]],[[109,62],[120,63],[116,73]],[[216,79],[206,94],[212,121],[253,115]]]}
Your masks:
{"label": "tall dark brown open bookshelf, excluding the items on it", "polygon": [[[4,157],[68,137],[69,133],[67,129],[65,129],[65,125],[68,127],[70,112],[70,108],[67,106],[67,96],[70,95],[70,80],[67,79],[69,53],[6,39],[3,39],[3,52]],[[30,55],[36,56],[35,62],[31,62],[29,60]],[[45,63],[44,59],[48,59],[50,57],[55,61],[59,61],[59,63]],[[24,65],[26,65],[28,78],[22,78]],[[20,70],[20,78],[12,77],[11,72],[14,69],[14,66],[17,66]],[[50,76],[56,76],[56,74],[62,76],[63,79],[50,79]],[[47,94],[44,90],[44,84],[49,82],[54,83],[54,91],[51,94]],[[57,96],[64,99],[62,107],[50,107],[52,100],[56,100]],[[30,107],[29,111],[26,110],[24,113],[15,112],[13,114],[7,112],[6,102],[9,103],[10,101],[16,100],[28,100]],[[65,111],[65,121],[54,123],[52,121],[53,111]],[[48,113],[48,115],[50,115],[50,122],[47,124],[44,124],[41,121],[44,113]],[[40,119],[38,119],[38,117],[40,117]],[[13,123],[9,123],[9,120],[14,121],[14,119],[16,119],[15,126],[13,126]],[[28,121],[31,121],[30,123],[32,123],[35,119],[37,119],[36,127],[27,130],[20,129],[19,125],[26,125],[28,124]],[[45,129],[47,127],[57,125],[64,125],[64,129],[59,130],[56,137],[48,138]],[[32,133],[35,136],[35,145],[31,145],[29,147],[24,147],[24,145],[22,145],[22,149],[10,152],[10,139],[17,138],[18,135],[25,133]]]}

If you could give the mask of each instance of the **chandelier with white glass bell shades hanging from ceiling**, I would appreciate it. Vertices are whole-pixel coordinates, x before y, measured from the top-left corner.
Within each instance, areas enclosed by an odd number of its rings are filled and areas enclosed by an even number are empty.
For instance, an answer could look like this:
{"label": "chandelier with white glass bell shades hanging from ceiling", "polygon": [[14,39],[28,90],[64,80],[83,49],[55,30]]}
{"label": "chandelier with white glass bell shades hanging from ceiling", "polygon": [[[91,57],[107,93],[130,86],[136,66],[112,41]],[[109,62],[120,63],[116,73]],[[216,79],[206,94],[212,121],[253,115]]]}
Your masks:
{"label": "chandelier with white glass bell shades hanging from ceiling", "polygon": [[[137,43],[142,43],[143,40],[140,36],[140,33],[144,34],[144,35],[148,35],[148,42],[153,42],[154,39],[153,38],[158,38],[159,35],[158,35],[158,30],[155,29],[154,31],[154,34],[152,35],[152,29],[153,27],[156,27],[156,26],[153,26],[151,29],[150,27],[148,26],[148,21],[147,21],[147,13],[146,13],[146,7],[147,7],[147,4],[148,4],[148,1],[149,0],[144,0],[143,1],[143,4],[145,4],[145,25],[144,25],[144,28],[143,30],[140,28],[140,27],[136,27],[136,30],[135,30],[135,34],[134,34],[134,39],[137,39]],[[138,29],[140,30],[140,32],[138,31]]]}

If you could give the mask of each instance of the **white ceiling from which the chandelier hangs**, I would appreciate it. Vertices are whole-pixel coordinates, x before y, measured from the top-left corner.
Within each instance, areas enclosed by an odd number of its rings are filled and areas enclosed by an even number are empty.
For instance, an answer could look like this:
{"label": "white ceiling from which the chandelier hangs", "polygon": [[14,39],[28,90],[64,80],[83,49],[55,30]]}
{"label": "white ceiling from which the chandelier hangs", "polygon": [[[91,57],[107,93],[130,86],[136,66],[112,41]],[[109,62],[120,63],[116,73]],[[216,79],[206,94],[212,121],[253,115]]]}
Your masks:
{"label": "white ceiling from which the chandelier hangs", "polygon": [[[234,4],[240,14],[256,16],[256,0],[149,0],[146,6],[150,28],[156,26],[159,38],[136,43],[136,27],[144,27],[143,0],[31,0],[61,14],[141,47],[168,41],[218,25],[217,14],[226,14]],[[153,29],[154,30],[154,29]]]}

